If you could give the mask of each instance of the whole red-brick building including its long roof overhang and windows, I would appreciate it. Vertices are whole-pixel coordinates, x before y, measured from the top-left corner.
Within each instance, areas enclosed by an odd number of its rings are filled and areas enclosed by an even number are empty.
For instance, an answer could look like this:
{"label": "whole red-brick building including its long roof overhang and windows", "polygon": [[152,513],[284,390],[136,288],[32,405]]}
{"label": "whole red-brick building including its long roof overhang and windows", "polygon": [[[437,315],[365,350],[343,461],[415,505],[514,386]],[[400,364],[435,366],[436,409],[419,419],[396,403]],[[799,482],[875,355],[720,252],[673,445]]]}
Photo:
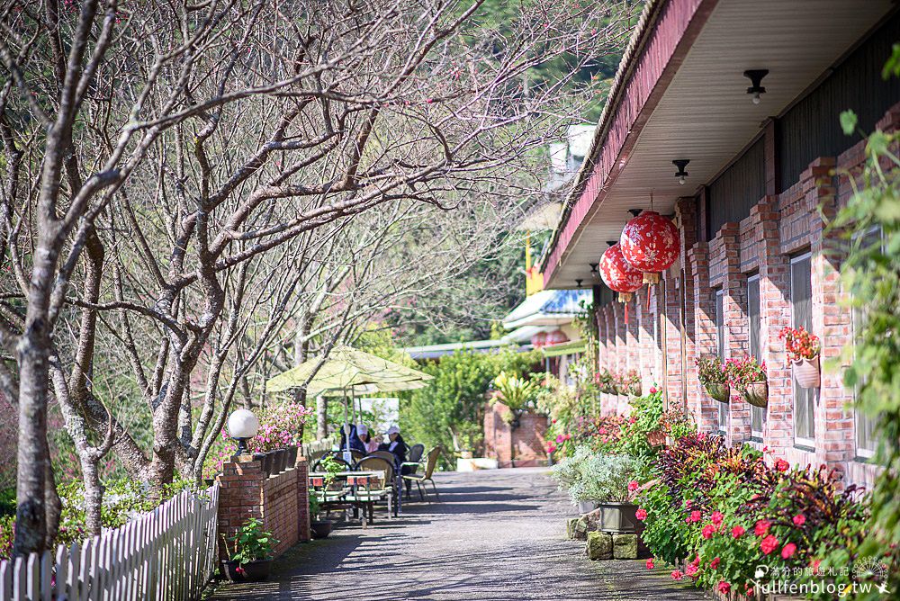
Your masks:
{"label": "whole red-brick building including its long roof overhang and windows", "polygon": [[[818,389],[795,384],[779,330],[807,327],[825,360],[851,345],[824,220],[851,195],[863,143],[839,114],[852,109],[867,132],[900,124],[900,83],[881,76],[896,41],[888,0],[648,2],[542,261],[547,288],[593,282],[601,367],[637,370],[644,390],[661,385],[729,443],[860,483],[876,469],[871,424],[848,408],[841,372],[823,370]],[[747,70],[768,70],[759,103]],[[684,159],[680,184],[673,161]],[[679,228],[680,259],[626,309],[590,264],[651,198]],[[694,366],[704,354],[765,361],[768,407],[711,399]],[[603,405],[624,408],[611,396]]]}

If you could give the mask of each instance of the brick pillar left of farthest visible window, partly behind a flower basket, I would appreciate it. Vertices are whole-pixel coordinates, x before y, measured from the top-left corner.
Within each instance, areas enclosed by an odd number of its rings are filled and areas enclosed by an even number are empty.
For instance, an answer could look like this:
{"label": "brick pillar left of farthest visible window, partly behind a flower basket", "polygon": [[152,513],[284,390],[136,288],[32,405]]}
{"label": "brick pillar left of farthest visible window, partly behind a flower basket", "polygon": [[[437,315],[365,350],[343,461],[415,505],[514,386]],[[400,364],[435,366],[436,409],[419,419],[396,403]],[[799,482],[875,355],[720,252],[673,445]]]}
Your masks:
{"label": "brick pillar left of farthest visible window, partly behind a flower basket", "polygon": [[694,360],[716,354],[716,296],[709,283],[709,243],[698,242],[688,251],[687,263],[694,275],[694,296],[689,299],[694,313],[694,356],[690,364],[693,378],[689,382],[689,408],[697,419],[698,430],[716,432],[718,401],[707,394],[697,377]]}

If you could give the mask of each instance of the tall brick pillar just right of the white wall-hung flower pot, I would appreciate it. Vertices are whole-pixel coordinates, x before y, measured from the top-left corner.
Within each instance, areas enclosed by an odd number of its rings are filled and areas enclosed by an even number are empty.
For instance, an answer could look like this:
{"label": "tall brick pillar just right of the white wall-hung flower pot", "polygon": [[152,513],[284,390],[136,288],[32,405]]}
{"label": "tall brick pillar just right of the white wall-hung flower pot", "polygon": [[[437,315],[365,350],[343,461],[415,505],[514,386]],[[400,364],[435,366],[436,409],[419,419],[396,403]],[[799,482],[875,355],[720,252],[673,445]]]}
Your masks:
{"label": "tall brick pillar just right of the white wall-hung flower pot", "polygon": [[[820,158],[809,168],[804,182],[810,205],[821,209],[827,220],[837,213],[837,195],[831,175],[834,159]],[[841,303],[840,244],[825,238],[825,223],[818,210],[809,211],[812,251],[813,334],[822,341],[821,388],[815,408],[815,459],[845,472],[856,455],[853,411],[845,409],[852,391],[843,385],[842,370],[826,370],[824,362],[840,357],[843,347],[853,344],[851,311]]]}

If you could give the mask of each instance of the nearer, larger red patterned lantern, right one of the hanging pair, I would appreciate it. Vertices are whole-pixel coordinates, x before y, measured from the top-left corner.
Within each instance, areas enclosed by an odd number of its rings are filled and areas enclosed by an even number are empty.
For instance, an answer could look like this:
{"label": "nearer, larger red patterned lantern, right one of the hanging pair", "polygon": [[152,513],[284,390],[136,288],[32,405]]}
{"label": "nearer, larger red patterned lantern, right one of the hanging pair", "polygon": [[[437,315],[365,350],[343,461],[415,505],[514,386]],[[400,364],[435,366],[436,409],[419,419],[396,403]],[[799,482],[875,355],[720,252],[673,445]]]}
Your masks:
{"label": "nearer, larger red patterned lantern, right one of the hanging pair", "polygon": [[619,245],[626,261],[644,272],[644,283],[659,282],[660,272],[669,269],[681,252],[678,228],[654,211],[644,211],[628,221]]}

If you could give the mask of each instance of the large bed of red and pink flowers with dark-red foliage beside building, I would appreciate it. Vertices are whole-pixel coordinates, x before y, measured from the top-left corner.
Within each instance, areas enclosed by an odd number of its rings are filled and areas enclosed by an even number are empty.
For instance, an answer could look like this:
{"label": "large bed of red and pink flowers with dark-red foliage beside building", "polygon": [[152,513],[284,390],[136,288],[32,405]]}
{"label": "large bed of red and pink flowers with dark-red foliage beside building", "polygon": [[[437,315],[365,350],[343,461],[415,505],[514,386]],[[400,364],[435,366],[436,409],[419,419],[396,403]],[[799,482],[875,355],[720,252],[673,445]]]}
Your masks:
{"label": "large bed of red and pink flowers with dark-red foliage beside building", "polygon": [[867,509],[833,473],[770,466],[749,446],[726,448],[704,434],[662,450],[650,473],[638,516],[655,559],[675,567],[672,579],[751,596],[770,579],[851,587],[867,578],[846,570],[859,559]]}

